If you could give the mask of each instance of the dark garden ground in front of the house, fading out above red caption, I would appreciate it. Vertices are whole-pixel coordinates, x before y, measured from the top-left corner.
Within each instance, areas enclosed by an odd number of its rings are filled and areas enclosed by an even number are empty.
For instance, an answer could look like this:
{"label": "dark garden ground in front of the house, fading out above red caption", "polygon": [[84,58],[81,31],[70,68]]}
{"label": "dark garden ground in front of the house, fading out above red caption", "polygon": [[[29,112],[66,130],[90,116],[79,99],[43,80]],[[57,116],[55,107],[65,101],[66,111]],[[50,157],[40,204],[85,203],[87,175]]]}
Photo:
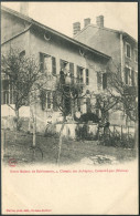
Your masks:
{"label": "dark garden ground in front of the house, fading out above red caption", "polygon": [[[23,132],[15,133],[11,131],[6,132],[4,156],[6,164],[10,160],[15,160],[17,164],[56,164],[58,138],[44,137],[36,135],[35,153],[32,148],[32,134]],[[43,153],[43,158],[42,158]],[[63,138],[61,161],[60,164],[105,164],[105,163],[122,163],[125,161],[132,161],[137,156],[137,152],[131,148],[111,147],[98,145],[97,141],[67,141]]]}

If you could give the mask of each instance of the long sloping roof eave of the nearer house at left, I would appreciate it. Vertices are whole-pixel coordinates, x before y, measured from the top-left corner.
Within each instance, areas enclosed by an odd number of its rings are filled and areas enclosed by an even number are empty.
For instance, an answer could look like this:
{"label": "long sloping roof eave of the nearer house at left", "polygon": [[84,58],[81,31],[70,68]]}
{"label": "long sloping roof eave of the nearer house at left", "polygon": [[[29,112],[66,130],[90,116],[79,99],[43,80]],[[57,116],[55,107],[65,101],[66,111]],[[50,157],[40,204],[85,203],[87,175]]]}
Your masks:
{"label": "long sloping roof eave of the nearer house at left", "polygon": [[110,59],[109,55],[107,55],[107,54],[105,54],[103,52],[99,52],[99,51],[97,51],[97,50],[95,50],[95,49],[93,49],[93,48],[90,48],[90,47],[88,47],[88,45],[86,45],[86,44],[84,44],[84,43],[82,43],[82,42],[73,39],[73,38],[69,38],[69,37],[65,35],[65,34],[63,34],[63,33],[61,33],[61,32],[58,32],[58,31],[56,31],[56,30],[54,30],[54,29],[52,29],[50,27],[46,27],[46,25],[44,25],[44,24],[42,24],[42,23],[40,23],[40,22],[31,19],[28,16],[24,16],[24,14],[18,12],[18,11],[14,11],[12,9],[9,9],[9,8],[4,7],[4,6],[1,6],[1,10],[6,11],[8,13],[11,13],[12,16],[15,16],[15,17],[18,17],[20,19],[23,19],[23,20],[30,22],[33,25],[36,25],[36,27],[40,27],[40,28],[42,28],[42,29],[44,29],[46,31],[50,31],[50,32],[52,32],[52,33],[61,37],[62,39],[64,39],[64,40],[66,40],[68,42],[72,42],[72,43],[74,43],[76,45],[79,45],[79,47],[82,47],[82,48],[84,48],[84,49],[86,49],[86,50],[88,50],[88,51],[90,51],[90,52],[93,52],[93,53],[95,53],[97,55],[100,55],[100,56],[106,58],[106,59]]}

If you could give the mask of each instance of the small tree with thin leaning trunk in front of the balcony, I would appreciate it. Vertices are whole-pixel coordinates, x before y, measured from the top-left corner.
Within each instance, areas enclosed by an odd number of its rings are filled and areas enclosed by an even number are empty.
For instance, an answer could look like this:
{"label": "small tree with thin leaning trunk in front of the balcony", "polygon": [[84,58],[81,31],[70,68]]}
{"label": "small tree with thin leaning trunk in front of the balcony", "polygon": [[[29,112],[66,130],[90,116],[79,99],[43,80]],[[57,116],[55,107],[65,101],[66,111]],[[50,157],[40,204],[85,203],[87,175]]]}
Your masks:
{"label": "small tree with thin leaning trunk in front of the balcony", "polygon": [[65,75],[65,78],[58,75],[55,85],[55,93],[53,96],[53,103],[55,103],[56,107],[62,112],[63,115],[62,127],[60,130],[57,164],[60,163],[61,158],[62,137],[66,116],[71,114],[72,119],[74,120],[75,103],[77,100],[83,99],[85,95],[86,94],[83,93],[83,88],[78,79],[69,75]]}

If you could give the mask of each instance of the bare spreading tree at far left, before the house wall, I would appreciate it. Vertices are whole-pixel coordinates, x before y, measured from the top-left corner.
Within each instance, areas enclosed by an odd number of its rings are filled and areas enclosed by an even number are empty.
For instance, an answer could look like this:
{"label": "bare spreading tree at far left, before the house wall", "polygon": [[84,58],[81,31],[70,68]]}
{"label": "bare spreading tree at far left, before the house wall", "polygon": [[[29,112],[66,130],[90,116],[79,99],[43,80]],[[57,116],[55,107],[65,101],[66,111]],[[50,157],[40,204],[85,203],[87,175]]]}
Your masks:
{"label": "bare spreading tree at far left, before the house wall", "polygon": [[25,105],[33,103],[34,95],[37,89],[42,85],[43,75],[40,72],[40,65],[33,56],[26,56],[25,53],[20,53],[19,50],[11,49],[10,52],[2,54],[1,71],[10,86],[11,101],[8,105],[15,113],[15,131],[19,130],[19,110]]}

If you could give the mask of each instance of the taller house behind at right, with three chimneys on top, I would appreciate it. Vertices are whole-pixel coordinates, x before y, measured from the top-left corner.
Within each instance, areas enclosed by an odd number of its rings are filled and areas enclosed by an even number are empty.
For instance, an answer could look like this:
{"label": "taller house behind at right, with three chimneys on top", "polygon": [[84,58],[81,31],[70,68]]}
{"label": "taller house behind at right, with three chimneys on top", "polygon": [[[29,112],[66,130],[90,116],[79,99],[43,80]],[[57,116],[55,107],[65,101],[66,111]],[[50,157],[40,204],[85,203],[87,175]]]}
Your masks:
{"label": "taller house behind at right, with three chimneys on top", "polygon": [[[111,56],[114,69],[130,91],[138,88],[138,42],[123,31],[106,28],[104,16],[96,18],[96,24],[90,19],[73,24],[74,39]],[[114,70],[112,69],[112,70]],[[110,113],[110,120],[116,124],[133,124],[122,112]],[[127,122],[126,122],[127,120]],[[125,123],[126,122],[126,123]]]}

